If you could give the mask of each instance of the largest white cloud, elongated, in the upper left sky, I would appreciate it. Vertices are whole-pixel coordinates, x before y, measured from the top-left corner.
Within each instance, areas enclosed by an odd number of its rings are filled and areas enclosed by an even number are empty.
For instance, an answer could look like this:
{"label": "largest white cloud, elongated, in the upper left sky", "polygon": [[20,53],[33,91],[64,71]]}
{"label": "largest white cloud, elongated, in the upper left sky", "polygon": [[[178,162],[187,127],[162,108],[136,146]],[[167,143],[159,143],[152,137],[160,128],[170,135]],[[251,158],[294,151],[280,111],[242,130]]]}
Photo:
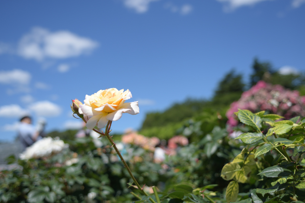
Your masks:
{"label": "largest white cloud, elongated, in the upper left sky", "polygon": [[36,27],[21,38],[18,54],[26,59],[43,61],[45,58],[76,57],[89,53],[97,46],[97,42],[69,31],[50,32]]}

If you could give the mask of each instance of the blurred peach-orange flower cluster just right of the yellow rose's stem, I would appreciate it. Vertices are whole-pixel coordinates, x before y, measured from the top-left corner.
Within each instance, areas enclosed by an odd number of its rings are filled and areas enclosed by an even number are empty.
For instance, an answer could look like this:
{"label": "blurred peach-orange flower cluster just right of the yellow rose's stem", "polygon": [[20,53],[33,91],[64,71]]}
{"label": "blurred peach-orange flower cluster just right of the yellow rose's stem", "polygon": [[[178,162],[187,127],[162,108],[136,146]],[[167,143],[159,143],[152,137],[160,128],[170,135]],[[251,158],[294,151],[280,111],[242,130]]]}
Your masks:
{"label": "blurred peach-orange flower cluster just right of the yellow rose's stem", "polygon": [[122,142],[125,144],[137,145],[150,151],[155,151],[155,146],[160,143],[160,139],[157,137],[147,138],[136,132],[130,132],[122,136]]}

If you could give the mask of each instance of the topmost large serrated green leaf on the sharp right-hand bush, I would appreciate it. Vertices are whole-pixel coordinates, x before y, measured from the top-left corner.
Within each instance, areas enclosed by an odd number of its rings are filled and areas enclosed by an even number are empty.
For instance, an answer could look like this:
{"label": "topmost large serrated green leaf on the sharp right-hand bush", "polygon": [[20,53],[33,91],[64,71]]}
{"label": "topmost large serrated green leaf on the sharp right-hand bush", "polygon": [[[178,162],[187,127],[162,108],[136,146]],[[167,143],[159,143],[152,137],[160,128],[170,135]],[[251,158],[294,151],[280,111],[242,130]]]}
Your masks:
{"label": "topmost large serrated green leaf on the sharp right-hand bush", "polygon": [[255,130],[260,131],[260,128],[262,127],[262,119],[259,116],[253,114],[249,110],[240,109],[237,116],[242,123],[252,126]]}

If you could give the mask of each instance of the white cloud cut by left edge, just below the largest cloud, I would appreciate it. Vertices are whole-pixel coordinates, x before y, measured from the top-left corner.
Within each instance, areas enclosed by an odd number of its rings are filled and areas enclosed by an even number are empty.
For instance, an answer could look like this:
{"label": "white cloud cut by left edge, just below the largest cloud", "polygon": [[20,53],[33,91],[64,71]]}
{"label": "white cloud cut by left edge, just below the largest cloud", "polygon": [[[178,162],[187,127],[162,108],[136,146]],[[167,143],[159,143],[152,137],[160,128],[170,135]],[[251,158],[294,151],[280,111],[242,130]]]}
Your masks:
{"label": "white cloud cut by left edge, just below the largest cloud", "polygon": [[3,84],[21,84],[27,85],[30,83],[31,74],[29,72],[15,69],[12,71],[1,71],[0,72],[0,83]]}

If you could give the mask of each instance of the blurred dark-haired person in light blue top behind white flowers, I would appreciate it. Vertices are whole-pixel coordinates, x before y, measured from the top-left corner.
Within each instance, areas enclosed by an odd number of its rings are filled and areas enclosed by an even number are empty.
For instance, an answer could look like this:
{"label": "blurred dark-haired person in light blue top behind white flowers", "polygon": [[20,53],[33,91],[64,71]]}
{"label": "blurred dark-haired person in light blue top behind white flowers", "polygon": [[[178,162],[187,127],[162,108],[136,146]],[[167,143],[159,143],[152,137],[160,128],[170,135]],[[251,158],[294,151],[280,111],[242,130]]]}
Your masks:
{"label": "blurred dark-haired person in light blue top behind white flowers", "polygon": [[35,127],[32,124],[32,118],[30,116],[24,116],[20,119],[18,137],[23,146],[23,150],[45,136],[45,125],[45,120],[40,120]]}

